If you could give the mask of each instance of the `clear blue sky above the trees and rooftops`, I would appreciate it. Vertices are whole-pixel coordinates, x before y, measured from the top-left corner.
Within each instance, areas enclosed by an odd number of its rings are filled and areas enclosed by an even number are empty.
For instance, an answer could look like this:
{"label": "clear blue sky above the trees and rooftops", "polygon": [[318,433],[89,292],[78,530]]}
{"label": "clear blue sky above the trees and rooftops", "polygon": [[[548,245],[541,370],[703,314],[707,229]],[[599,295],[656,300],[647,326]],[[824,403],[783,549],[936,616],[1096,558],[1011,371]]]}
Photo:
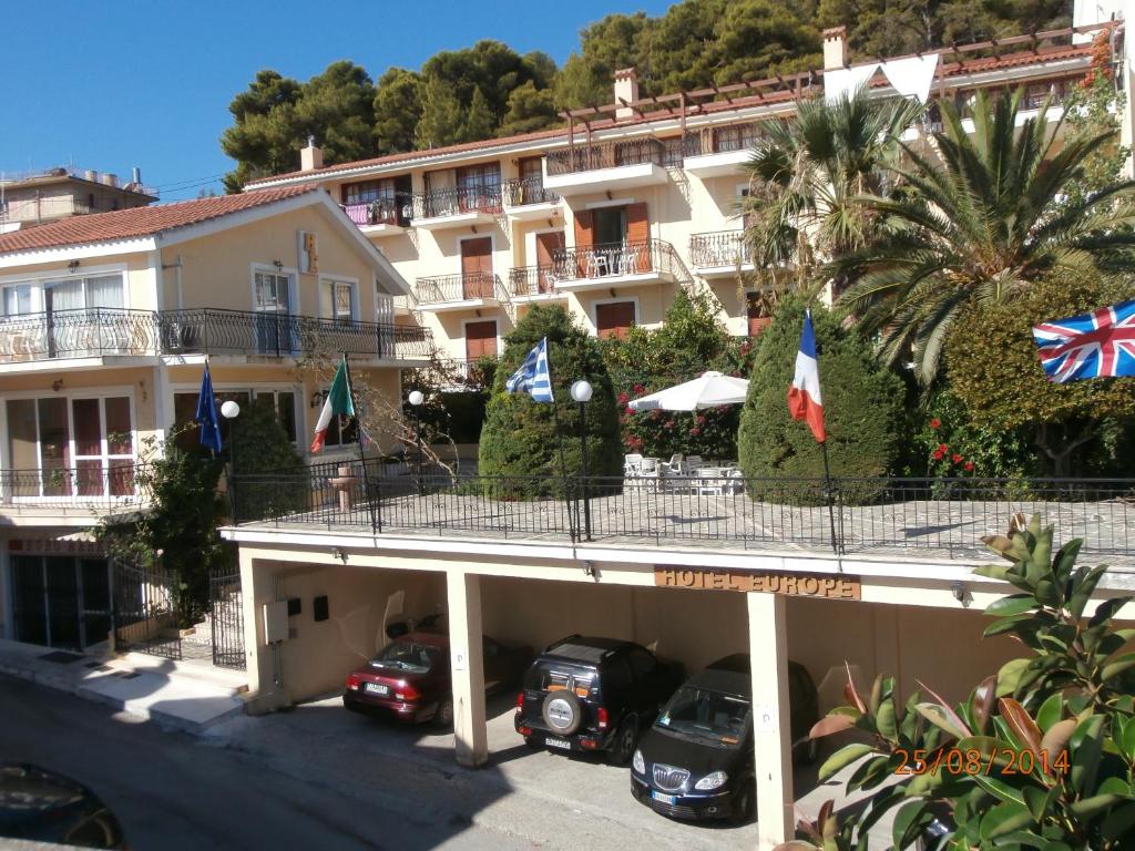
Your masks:
{"label": "clear blue sky above the trees and rooftops", "polygon": [[[0,171],[132,167],[163,201],[221,192],[228,104],[261,68],[305,81],[337,59],[377,79],[480,39],[557,64],[609,12],[674,0],[90,0],[8,3]],[[296,154],[299,166],[299,153]]]}

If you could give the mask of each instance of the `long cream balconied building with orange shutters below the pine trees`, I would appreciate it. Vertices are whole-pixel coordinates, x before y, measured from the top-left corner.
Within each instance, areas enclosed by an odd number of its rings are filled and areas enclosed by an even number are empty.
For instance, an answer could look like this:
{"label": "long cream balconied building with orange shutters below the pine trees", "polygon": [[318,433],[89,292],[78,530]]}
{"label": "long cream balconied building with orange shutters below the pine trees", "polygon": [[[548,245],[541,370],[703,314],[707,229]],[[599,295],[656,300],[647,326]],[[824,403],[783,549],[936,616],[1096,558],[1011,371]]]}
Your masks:
{"label": "long cream balconied building with orange shutters below the pine trees", "polygon": [[[1104,25],[1105,26],[1105,25]],[[1093,35],[1095,31],[1088,33]],[[934,54],[918,74],[922,96],[964,101],[976,89],[1023,86],[1024,116],[1059,102],[1091,64],[1092,44],[1062,37],[1035,51],[1004,42],[1000,57],[968,48]],[[1008,52],[1008,51],[1022,52]],[[764,322],[739,271],[753,269],[741,239],[745,163],[762,123],[790,118],[797,100],[827,81],[871,81],[878,94],[911,83],[909,62],[846,67],[842,28],[830,31],[823,73],[639,99],[633,69],[614,81],[614,102],[574,110],[569,127],[375,160],[301,170],[247,191],[302,183],[325,187],[412,283],[400,303],[457,363],[495,355],[532,304],[563,305],[599,336],[656,327],[680,288],[706,288],[734,335]],[[840,76],[843,75],[843,76]],[[889,76],[890,75],[890,76]],[[909,85],[908,85],[909,84]]]}

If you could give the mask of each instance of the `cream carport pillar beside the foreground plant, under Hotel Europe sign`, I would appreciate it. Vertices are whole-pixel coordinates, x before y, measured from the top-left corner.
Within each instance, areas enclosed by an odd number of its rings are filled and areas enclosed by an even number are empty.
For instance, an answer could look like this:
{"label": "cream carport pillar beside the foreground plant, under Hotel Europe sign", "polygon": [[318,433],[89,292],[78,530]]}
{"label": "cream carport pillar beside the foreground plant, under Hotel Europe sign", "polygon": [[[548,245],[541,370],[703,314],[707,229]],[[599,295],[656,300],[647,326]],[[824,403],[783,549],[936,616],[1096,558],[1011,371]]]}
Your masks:
{"label": "cream carport pillar beside the foreground plant, under Hotel Europe sign", "polygon": [[785,598],[748,593],[753,659],[753,745],[757,772],[757,848],[773,849],[794,835],[792,715],[788,703]]}

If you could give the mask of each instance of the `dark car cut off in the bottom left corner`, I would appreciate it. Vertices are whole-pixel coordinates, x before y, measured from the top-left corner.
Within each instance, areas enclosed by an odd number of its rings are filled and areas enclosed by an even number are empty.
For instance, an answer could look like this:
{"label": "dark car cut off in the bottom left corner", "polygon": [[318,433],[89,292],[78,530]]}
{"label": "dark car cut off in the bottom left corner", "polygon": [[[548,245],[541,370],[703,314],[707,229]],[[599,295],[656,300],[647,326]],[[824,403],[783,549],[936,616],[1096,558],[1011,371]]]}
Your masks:
{"label": "dark car cut off in the bottom left corner", "polygon": [[121,825],[94,792],[70,777],[26,764],[0,765],[0,837],[126,848]]}

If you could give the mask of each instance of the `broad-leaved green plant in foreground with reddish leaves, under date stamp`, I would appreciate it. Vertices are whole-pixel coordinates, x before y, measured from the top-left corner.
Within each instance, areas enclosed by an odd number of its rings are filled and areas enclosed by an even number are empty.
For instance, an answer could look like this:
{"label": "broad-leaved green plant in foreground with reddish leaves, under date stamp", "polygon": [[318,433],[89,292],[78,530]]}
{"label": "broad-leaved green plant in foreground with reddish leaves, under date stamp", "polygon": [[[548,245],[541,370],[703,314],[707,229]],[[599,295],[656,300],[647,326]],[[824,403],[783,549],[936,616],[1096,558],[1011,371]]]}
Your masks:
{"label": "broad-leaved green plant in foreground with reddish leaves, under date stamp", "polygon": [[913,846],[935,818],[952,826],[939,846],[955,851],[1130,848],[1135,652],[1124,648],[1135,630],[1115,629],[1112,620],[1133,598],[1100,603],[1085,617],[1107,566],[1077,567],[1079,539],[1053,554],[1052,526],[1023,520],[1009,534],[984,539],[1011,565],[976,573],[1019,591],[986,608],[997,621],[985,635],[1012,634],[1032,655],[1007,663],[955,706],[922,683],[901,701],[886,676],[865,699],[849,675],[849,705],[812,735],[857,730],[867,741],[833,753],[819,780],[856,764],[848,791],[876,791],[861,812],[842,819],[829,802],[815,823],[801,823],[804,839],[782,849],[861,851],[871,828],[896,808],[897,849]]}

